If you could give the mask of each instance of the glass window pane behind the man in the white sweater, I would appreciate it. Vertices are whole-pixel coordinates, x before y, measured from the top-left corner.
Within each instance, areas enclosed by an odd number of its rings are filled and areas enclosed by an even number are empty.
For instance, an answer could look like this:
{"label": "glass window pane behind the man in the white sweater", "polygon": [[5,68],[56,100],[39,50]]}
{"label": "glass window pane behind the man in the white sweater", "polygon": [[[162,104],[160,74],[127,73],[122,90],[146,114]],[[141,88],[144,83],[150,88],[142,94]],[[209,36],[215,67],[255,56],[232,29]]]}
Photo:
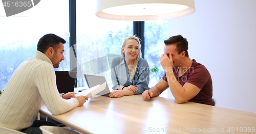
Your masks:
{"label": "glass window pane behind the man in the white sweater", "polygon": [[[4,89],[20,63],[34,57],[37,42],[45,34],[53,33],[67,41],[69,48],[69,1],[44,0],[22,13],[5,17],[0,14],[0,89]],[[65,55],[65,53],[64,53]],[[58,70],[69,70],[66,61]]]}

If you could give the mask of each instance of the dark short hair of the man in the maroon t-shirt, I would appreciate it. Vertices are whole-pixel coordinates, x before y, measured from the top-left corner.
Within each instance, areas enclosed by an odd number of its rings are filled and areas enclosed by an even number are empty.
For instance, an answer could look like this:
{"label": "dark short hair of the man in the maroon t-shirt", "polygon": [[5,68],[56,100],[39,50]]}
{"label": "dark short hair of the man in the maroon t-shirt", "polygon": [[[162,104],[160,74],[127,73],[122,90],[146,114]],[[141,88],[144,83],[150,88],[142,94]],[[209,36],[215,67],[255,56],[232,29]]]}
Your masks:
{"label": "dark short hair of the man in the maroon t-shirt", "polygon": [[188,42],[186,38],[183,38],[181,35],[172,36],[169,39],[164,41],[165,45],[175,45],[178,54],[182,51],[185,51],[185,56],[188,57]]}

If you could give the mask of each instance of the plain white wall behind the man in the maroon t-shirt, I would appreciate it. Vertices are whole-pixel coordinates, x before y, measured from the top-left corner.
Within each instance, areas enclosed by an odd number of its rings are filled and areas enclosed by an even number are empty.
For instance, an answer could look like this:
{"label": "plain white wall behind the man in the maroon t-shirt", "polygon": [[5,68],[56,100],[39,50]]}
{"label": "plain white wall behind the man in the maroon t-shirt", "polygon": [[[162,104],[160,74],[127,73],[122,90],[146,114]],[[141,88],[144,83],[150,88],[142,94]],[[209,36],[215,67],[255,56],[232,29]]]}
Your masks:
{"label": "plain white wall behind the man in the maroon t-shirt", "polygon": [[168,20],[168,37],[187,38],[190,59],[211,74],[217,106],[256,112],[256,1],[195,0],[195,6],[195,13]]}

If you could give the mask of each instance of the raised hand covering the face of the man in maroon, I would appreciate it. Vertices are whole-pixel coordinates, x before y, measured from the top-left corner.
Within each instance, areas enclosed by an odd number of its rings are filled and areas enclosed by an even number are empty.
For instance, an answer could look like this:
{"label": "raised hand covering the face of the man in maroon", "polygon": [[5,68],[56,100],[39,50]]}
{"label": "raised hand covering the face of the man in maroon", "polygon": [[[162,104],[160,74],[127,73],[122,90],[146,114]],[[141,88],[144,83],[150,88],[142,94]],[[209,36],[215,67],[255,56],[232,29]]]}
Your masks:
{"label": "raised hand covering the face of the man in maroon", "polygon": [[172,53],[169,53],[169,58],[168,58],[168,56],[164,52],[163,55],[160,57],[159,61],[165,72],[168,71],[169,69],[172,69],[173,67]]}

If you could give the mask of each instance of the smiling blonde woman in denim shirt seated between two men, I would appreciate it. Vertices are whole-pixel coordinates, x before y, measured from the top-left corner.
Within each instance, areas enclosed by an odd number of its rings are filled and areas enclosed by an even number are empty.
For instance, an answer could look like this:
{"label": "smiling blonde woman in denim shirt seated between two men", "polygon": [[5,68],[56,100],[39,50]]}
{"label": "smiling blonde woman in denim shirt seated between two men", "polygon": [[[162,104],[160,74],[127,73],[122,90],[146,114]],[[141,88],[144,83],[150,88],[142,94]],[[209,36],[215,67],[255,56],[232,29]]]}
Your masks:
{"label": "smiling blonde woman in denim shirt seated between two men", "polygon": [[113,90],[109,97],[142,94],[148,89],[150,72],[147,61],[140,57],[141,45],[136,36],[126,37],[121,55],[112,61],[111,79]]}

